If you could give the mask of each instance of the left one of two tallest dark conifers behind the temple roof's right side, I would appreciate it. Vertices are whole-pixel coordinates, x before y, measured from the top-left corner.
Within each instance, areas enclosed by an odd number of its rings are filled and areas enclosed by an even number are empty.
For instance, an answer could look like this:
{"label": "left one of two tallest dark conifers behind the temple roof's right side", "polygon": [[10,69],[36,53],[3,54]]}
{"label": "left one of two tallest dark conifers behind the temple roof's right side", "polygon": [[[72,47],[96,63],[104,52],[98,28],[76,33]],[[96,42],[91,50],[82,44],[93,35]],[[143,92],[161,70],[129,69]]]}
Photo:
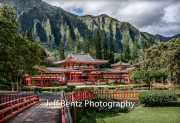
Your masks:
{"label": "left one of two tallest dark conifers behind the temple roof's right side", "polygon": [[101,40],[100,40],[99,29],[97,30],[97,33],[96,33],[96,58],[102,59]]}

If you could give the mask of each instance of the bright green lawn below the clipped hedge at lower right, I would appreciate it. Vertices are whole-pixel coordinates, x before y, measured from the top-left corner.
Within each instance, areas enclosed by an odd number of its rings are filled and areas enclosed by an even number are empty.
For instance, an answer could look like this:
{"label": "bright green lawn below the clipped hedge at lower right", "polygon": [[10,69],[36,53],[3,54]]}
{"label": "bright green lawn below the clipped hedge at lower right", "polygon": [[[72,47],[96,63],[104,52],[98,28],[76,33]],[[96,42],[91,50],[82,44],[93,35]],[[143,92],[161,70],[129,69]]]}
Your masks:
{"label": "bright green lawn below the clipped hedge at lower right", "polygon": [[128,113],[94,113],[88,123],[180,123],[180,100],[164,106],[140,105]]}

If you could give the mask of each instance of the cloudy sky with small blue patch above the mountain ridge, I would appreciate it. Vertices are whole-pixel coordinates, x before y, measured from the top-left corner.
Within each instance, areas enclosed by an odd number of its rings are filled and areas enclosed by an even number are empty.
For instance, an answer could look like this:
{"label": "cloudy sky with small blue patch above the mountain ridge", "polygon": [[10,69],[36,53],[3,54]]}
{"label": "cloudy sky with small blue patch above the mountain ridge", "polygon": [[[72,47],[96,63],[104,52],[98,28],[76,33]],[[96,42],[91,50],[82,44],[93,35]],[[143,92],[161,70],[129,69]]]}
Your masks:
{"label": "cloudy sky with small blue patch above the mountain ridge", "polygon": [[141,32],[180,34],[180,0],[43,0],[76,15],[106,14]]}

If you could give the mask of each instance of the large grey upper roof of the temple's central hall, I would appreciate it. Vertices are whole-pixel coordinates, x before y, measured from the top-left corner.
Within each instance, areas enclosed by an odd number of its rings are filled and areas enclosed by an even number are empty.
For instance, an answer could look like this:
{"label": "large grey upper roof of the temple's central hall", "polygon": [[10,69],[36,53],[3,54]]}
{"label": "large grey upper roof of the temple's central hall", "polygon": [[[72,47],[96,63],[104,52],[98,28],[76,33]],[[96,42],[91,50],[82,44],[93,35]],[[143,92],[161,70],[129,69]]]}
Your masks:
{"label": "large grey upper roof of the temple's central hall", "polygon": [[107,63],[108,60],[100,60],[94,59],[90,56],[89,53],[80,54],[80,53],[69,53],[68,57],[65,60],[53,62],[54,64],[61,64],[66,62],[67,60],[75,61],[75,62],[89,62],[89,63]]}

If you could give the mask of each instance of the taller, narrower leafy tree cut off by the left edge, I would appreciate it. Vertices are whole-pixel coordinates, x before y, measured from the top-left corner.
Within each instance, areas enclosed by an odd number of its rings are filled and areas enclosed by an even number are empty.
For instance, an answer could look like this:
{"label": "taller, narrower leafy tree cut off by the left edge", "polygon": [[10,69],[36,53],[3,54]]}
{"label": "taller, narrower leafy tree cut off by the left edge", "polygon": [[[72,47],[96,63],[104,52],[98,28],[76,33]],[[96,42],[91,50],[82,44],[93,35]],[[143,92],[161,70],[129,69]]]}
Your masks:
{"label": "taller, narrower leafy tree cut off by the left edge", "polygon": [[13,49],[11,47],[15,45],[14,39],[18,32],[18,25],[13,19],[15,15],[15,11],[9,5],[0,7],[0,72],[9,76],[12,91],[14,91],[14,84],[11,75],[13,66],[11,64],[13,60]]}

